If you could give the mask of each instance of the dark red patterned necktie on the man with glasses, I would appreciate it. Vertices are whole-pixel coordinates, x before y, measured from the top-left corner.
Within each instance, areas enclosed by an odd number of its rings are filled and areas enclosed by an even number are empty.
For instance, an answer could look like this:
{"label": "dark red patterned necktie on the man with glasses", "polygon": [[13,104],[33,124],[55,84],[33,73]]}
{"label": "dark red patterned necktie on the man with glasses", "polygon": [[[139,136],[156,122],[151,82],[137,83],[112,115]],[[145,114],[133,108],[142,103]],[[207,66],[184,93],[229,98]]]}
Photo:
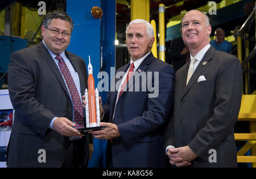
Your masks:
{"label": "dark red patterned necktie on the man with glasses", "polygon": [[74,122],[76,123],[75,128],[84,128],[84,114],[82,112],[82,103],[75,82],[73,81],[73,78],[68,70],[68,66],[64,62],[63,58],[60,55],[57,55],[55,59],[59,60],[60,72],[63,75],[68,86],[69,93],[71,94],[73,102]]}

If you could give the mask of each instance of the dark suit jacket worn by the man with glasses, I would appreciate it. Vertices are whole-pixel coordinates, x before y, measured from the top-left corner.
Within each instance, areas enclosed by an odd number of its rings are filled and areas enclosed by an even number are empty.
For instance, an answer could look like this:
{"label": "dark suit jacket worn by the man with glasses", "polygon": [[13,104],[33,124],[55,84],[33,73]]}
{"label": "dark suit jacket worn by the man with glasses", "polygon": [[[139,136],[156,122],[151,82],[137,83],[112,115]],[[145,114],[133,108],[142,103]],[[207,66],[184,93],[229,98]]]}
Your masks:
{"label": "dark suit jacket worn by the man with glasses", "polygon": [[[65,51],[79,74],[81,94],[87,86],[84,60]],[[72,101],[61,72],[41,42],[11,55],[8,72],[10,99],[15,115],[9,141],[9,167],[59,167],[67,155],[69,138],[49,129],[55,116],[73,118]],[[88,160],[86,140],[85,160]],[[46,163],[39,163],[39,149]]]}

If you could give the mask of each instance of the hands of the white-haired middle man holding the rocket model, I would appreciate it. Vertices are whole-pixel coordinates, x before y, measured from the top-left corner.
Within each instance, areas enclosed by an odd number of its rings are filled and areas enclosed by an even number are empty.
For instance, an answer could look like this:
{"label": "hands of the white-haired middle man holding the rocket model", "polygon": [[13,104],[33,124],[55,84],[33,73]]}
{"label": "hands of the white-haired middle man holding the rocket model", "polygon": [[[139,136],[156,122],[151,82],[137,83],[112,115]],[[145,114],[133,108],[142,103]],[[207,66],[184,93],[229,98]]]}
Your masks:
{"label": "hands of the white-haired middle man holding the rocket model", "polygon": [[[100,115],[102,118],[102,116],[104,115],[104,110],[102,108],[101,97],[99,97],[99,101],[100,101]],[[86,105],[85,96],[83,95],[82,106],[85,107],[85,105]],[[120,136],[117,125],[113,123],[101,122],[100,126],[104,126],[105,128],[99,131],[90,131],[89,134],[92,134],[96,139],[104,139],[104,140],[113,139]]]}

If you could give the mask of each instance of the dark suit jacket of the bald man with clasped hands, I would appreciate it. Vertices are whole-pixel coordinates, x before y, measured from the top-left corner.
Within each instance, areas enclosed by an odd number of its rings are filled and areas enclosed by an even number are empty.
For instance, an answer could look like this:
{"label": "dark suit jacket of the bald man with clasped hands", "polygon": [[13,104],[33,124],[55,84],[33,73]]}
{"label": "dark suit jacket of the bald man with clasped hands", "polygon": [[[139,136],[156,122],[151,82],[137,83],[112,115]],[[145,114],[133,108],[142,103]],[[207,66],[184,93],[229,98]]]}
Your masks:
{"label": "dark suit jacket of the bald man with clasped hands", "polygon": [[[210,47],[186,86],[189,63],[176,73],[174,118],[164,145],[188,145],[197,157],[192,167],[236,167],[234,124],[242,95],[242,68],[233,55]],[[206,81],[197,82],[200,76]],[[212,151],[216,150],[216,163]]]}

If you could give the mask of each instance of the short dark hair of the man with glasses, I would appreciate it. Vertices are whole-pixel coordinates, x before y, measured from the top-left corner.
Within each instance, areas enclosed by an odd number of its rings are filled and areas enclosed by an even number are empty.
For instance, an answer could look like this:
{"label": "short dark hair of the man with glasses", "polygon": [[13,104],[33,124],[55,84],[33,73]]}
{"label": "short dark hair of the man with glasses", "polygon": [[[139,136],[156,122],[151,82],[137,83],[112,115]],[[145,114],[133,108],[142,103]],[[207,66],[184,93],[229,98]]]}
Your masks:
{"label": "short dark hair of the man with glasses", "polygon": [[51,23],[52,19],[61,19],[61,20],[65,20],[66,22],[69,22],[70,24],[70,28],[71,28],[71,32],[73,31],[73,20],[71,19],[71,17],[62,11],[53,11],[51,13],[46,14],[46,16],[44,17],[43,20],[43,26],[44,27],[48,27],[49,23]]}

